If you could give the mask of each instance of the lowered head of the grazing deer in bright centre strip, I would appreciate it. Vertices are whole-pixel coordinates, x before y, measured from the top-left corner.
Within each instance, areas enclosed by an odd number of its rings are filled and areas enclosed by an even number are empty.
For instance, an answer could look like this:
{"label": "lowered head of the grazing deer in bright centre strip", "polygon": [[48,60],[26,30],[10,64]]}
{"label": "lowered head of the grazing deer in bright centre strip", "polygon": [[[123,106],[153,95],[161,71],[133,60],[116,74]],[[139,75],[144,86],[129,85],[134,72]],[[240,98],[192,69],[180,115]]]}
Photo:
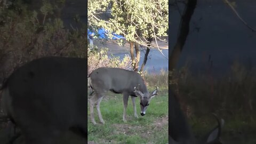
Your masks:
{"label": "lowered head of the grazing deer in bright centre strip", "polygon": [[149,106],[150,100],[157,95],[158,87],[156,87],[156,89],[151,93],[149,93],[149,92],[142,93],[138,89],[138,86],[134,87],[134,93],[137,95],[137,97],[140,98],[140,109],[141,109],[140,115],[143,116],[146,114],[146,110]]}

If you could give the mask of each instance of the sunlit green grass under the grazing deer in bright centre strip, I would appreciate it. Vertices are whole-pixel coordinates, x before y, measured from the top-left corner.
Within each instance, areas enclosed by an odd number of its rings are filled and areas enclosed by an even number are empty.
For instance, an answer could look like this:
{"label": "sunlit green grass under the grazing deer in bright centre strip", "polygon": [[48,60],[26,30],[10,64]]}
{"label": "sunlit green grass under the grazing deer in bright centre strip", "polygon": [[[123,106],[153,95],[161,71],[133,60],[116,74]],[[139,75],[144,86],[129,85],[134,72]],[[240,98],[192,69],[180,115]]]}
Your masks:
{"label": "sunlit green grass under the grazing deer in bright centre strip", "polygon": [[95,143],[168,143],[168,93],[158,91],[151,100],[145,116],[140,116],[139,98],[136,98],[137,114],[134,117],[129,98],[126,119],[123,122],[123,95],[108,93],[101,101],[100,109],[105,124],[100,124],[97,110],[94,117],[97,125],[91,123],[88,107],[88,141]]}

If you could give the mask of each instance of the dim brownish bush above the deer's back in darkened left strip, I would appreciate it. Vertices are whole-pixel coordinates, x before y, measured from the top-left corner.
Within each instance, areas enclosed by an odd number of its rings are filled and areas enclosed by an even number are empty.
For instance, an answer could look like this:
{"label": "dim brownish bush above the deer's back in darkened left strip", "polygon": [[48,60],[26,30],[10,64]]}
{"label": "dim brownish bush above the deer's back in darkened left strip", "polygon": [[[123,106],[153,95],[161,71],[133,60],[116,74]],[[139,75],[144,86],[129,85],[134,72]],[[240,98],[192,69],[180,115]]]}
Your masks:
{"label": "dim brownish bush above the deer's back in darkened left strip", "polygon": [[42,24],[38,17],[49,18],[46,12],[28,10],[18,2],[0,3],[0,83],[22,63],[36,58],[86,57],[85,28],[66,29],[60,18]]}

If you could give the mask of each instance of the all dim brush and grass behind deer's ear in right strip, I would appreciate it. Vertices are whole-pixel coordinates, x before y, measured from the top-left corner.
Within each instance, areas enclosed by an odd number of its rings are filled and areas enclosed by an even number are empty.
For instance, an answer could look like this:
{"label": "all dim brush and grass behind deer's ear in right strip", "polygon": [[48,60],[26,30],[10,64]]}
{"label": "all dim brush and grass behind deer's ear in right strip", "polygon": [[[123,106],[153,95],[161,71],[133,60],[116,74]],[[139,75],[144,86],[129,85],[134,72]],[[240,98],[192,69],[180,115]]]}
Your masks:
{"label": "all dim brush and grass behind deer's ear in right strip", "polygon": [[[211,113],[225,120],[223,143],[256,143],[256,69],[234,62],[222,76],[211,69],[192,74],[188,67],[172,71],[171,89],[179,93],[182,109],[195,135],[202,137],[217,122]],[[254,134],[254,135],[253,135]]]}

